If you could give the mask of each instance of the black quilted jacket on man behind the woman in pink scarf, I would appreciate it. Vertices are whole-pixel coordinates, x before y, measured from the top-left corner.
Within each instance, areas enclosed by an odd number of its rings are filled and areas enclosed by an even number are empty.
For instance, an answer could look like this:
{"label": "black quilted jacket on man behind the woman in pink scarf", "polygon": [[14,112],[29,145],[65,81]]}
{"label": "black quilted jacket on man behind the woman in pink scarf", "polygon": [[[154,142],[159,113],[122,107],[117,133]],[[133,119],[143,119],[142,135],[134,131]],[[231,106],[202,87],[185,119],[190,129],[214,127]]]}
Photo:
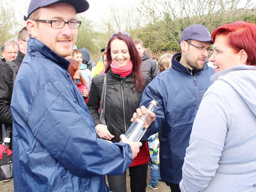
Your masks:
{"label": "black quilted jacket on man behind the woman in pink scarf", "polygon": [[143,73],[147,74],[150,77],[150,80],[155,78],[160,71],[155,60],[152,60],[148,57],[147,53],[144,52],[144,56],[141,58],[141,70]]}

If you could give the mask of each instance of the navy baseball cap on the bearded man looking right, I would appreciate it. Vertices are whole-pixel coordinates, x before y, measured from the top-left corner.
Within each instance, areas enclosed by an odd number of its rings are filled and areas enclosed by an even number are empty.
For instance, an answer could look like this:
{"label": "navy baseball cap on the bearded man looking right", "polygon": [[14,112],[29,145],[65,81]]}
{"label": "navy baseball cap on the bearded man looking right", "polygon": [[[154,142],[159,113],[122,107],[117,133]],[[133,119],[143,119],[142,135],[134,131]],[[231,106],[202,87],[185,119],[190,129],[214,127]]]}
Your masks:
{"label": "navy baseball cap on the bearded man looking right", "polygon": [[198,24],[190,25],[186,27],[180,36],[179,43],[181,41],[186,41],[189,39],[194,39],[196,41],[202,41],[202,42],[206,42],[206,41],[212,42],[212,38],[209,30],[203,25],[198,25]]}

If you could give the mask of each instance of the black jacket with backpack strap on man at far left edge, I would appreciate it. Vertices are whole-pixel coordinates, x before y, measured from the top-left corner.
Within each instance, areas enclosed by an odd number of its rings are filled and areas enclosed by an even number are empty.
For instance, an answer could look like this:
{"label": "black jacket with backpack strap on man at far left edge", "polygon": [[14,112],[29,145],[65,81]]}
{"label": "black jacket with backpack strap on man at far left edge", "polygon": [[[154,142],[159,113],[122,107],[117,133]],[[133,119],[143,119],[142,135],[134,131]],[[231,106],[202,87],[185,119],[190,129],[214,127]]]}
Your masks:
{"label": "black jacket with backpack strap on man at far left edge", "polygon": [[[15,60],[12,60],[19,68],[25,54],[20,50]],[[0,124],[12,124],[10,109],[12,97],[13,72],[7,63],[0,65]]]}

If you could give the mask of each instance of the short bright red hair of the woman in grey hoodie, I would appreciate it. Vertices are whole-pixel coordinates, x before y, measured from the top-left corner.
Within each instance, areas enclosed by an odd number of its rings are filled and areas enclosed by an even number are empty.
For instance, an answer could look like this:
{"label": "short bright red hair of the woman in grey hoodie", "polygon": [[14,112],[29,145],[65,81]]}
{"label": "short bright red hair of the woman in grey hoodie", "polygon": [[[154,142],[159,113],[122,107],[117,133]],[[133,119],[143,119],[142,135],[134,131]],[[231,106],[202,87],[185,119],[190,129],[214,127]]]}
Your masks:
{"label": "short bright red hair of the woman in grey hoodie", "polygon": [[220,26],[212,32],[213,43],[218,35],[227,37],[228,46],[235,53],[244,49],[248,55],[246,65],[256,65],[256,24],[236,21]]}

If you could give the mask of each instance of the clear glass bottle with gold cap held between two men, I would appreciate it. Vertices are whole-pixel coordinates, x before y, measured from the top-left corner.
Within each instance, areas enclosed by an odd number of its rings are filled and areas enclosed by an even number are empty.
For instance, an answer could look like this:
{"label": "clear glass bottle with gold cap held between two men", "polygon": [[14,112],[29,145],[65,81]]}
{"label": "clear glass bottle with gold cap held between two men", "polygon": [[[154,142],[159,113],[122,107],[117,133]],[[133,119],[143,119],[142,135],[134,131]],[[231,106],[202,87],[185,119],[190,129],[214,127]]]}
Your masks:
{"label": "clear glass bottle with gold cap held between two men", "polygon": [[134,120],[125,133],[125,137],[133,142],[138,142],[146,132],[148,126],[150,125],[150,112],[154,110],[156,107],[157,102],[152,100],[150,105],[148,106],[146,113],[141,117],[138,116],[136,120]]}

